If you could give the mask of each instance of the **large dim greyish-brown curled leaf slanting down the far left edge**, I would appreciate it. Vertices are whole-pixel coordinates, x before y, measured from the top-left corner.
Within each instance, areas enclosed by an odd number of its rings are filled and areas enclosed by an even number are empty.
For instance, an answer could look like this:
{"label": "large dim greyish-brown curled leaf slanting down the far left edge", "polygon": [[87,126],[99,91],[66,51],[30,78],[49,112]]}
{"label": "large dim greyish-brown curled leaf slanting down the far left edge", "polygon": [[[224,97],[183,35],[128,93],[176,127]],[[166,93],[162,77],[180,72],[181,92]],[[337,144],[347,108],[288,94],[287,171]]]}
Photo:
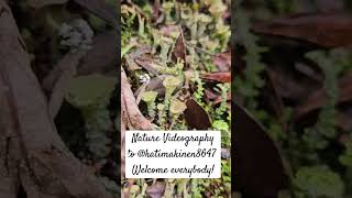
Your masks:
{"label": "large dim greyish-brown curled leaf slanting down the far left edge", "polygon": [[9,108],[0,114],[12,123],[0,131],[0,184],[7,185],[0,197],[13,197],[20,186],[29,198],[113,197],[65,146],[6,0],[0,10],[0,96]]}

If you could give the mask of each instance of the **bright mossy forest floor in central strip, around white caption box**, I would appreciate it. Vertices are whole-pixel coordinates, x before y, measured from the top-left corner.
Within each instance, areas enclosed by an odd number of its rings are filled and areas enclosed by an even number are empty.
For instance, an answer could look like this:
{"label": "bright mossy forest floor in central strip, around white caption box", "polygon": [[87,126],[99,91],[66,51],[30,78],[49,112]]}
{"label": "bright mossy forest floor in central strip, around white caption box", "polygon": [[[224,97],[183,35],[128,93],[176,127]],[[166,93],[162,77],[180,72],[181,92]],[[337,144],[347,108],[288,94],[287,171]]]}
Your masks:
{"label": "bright mossy forest floor in central strip, around white caption box", "polygon": [[230,197],[229,9],[229,1],[221,0],[122,2],[121,100],[127,114],[139,118],[138,123],[122,118],[127,130],[211,129],[222,134],[221,178],[122,178],[125,196]]}

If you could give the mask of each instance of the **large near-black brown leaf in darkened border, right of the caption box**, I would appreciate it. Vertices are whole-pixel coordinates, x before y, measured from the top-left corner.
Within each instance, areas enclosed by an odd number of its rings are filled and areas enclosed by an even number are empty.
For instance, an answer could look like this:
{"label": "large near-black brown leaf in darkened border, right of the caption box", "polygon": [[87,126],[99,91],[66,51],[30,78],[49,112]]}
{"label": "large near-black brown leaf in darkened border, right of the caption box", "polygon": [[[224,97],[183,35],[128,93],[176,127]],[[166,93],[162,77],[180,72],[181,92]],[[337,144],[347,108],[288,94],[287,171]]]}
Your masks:
{"label": "large near-black brown leaf in darkened border, right of the caption box", "polygon": [[275,142],[264,128],[233,101],[235,191],[244,197],[276,197],[289,187],[289,177]]}

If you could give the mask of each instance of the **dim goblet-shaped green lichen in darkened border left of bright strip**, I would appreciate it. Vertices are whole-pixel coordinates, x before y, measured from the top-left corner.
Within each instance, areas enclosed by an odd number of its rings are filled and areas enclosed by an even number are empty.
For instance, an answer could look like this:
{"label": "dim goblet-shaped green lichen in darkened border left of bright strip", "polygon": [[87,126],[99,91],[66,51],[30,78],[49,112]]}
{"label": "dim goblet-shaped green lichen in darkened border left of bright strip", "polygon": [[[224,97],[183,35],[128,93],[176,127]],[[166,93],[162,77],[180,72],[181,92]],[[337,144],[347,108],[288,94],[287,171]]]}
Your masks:
{"label": "dim goblet-shaped green lichen in darkened border left of bright strip", "polygon": [[65,99],[80,109],[86,122],[86,138],[94,158],[105,158],[110,153],[108,131],[112,127],[107,109],[117,79],[102,75],[78,76],[68,81]]}

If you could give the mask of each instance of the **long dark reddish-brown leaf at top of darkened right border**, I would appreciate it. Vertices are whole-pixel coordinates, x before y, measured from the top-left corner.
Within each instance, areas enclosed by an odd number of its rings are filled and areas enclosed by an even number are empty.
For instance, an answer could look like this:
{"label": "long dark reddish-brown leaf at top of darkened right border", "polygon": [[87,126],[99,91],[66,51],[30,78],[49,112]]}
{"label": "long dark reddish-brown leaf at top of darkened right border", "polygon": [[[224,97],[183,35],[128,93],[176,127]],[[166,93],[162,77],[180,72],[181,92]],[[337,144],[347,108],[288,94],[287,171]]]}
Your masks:
{"label": "long dark reddish-brown leaf at top of darkened right border", "polygon": [[270,22],[258,22],[254,24],[253,31],[297,38],[323,47],[352,44],[352,19],[341,13],[292,14]]}

